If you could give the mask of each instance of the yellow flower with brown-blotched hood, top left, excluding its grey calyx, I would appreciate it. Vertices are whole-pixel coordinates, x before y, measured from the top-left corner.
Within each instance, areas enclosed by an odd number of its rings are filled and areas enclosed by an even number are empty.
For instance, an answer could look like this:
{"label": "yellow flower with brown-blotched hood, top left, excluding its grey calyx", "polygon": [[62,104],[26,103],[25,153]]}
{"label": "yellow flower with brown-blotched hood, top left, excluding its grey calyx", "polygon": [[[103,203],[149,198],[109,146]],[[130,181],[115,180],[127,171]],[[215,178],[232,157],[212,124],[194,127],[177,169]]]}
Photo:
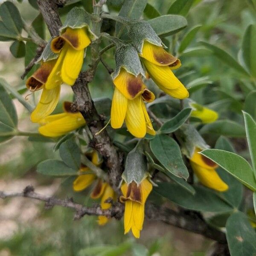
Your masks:
{"label": "yellow flower with brown-blotched hood, top left, excluding its grey calyx", "polygon": [[62,35],[52,40],[52,52],[60,55],[47,79],[46,89],[52,89],[62,82],[69,85],[75,83],[84,61],[84,49],[90,42],[86,28],[69,27]]}

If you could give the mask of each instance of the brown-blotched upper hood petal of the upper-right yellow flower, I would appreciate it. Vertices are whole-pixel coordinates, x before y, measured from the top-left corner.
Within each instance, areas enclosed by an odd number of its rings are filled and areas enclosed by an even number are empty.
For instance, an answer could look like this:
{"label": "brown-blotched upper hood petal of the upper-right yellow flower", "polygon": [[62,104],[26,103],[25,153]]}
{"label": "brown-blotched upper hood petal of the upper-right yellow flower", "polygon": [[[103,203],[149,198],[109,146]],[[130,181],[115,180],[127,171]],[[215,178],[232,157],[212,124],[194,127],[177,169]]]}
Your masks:
{"label": "brown-blotched upper hood petal of the upper-right yellow flower", "polygon": [[144,41],[140,56],[158,66],[169,66],[177,61],[177,58],[166,52],[163,47],[151,44],[148,41]]}

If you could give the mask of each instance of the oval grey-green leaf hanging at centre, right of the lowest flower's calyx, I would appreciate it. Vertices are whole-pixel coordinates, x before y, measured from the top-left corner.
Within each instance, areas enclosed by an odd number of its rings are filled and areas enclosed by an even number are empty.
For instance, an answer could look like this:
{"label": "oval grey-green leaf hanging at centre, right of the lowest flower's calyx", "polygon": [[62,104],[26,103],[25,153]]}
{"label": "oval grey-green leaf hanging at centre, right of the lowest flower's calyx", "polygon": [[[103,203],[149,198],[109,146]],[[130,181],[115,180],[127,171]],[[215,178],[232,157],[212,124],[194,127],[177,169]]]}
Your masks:
{"label": "oval grey-green leaf hanging at centre, right of the lowest flower's calyx", "polygon": [[166,170],[185,180],[189,177],[181,157],[180,147],[171,137],[165,134],[156,135],[153,140],[150,140],[150,148]]}

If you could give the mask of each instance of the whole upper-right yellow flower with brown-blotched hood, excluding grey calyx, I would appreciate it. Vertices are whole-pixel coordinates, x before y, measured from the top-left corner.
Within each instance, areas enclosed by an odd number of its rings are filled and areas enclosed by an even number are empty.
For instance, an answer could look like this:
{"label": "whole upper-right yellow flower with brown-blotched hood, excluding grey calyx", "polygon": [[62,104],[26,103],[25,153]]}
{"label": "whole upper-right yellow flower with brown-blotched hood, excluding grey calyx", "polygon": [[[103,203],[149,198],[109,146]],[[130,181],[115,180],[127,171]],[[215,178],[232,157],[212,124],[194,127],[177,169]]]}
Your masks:
{"label": "whole upper-right yellow flower with brown-blotched hood, excluding grey calyx", "polygon": [[144,41],[140,57],[143,58],[143,64],[151,79],[166,94],[177,99],[189,96],[189,92],[172,72],[181,66],[179,59],[166,52],[163,47],[148,41]]}

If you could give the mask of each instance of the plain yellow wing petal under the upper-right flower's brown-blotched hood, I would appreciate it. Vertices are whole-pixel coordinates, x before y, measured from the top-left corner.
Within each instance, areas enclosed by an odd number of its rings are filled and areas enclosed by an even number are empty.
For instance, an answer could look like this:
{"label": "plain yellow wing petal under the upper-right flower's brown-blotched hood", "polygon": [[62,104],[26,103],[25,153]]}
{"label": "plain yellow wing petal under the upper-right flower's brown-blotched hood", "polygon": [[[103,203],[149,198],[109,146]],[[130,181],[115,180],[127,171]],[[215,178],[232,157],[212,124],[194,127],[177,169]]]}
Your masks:
{"label": "plain yellow wing petal under the upper-right flower's brown-blotched hood", "polygon": [[167,89],[177,89],[182,87],[183,84],[179,79],[174,75],[172,70],[166,66],[161,67],[151,62],[143,59],[143,64],[145,65],[146,70],[148,71],[151,79],[160,87],[165,87]]}

